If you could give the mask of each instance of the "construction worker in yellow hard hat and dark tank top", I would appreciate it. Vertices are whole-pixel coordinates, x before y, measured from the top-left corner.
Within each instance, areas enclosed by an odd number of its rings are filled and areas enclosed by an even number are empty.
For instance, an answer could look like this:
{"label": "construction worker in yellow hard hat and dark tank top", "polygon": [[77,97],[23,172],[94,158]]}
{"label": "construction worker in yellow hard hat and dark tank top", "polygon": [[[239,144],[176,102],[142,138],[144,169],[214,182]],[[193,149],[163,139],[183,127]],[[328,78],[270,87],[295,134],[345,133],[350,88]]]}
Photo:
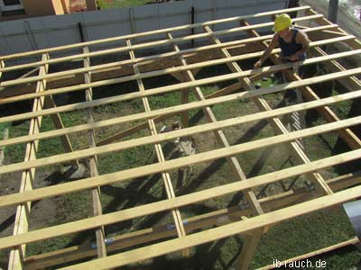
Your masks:
{"label": "construction worker in yellow hard hat and dark tank top", "polygon": [[[282,51],[282,62],[295,62],[306,58],[306,51],[310,47],[310,40],[305,32],[292,27],[292,19],[288,14],[276,16],[273,31],[275,33],[271,43],[264,50],[262,57],[255,63],[255,68],[262,66],[277,45],[280,46]],[[299,76],[302,76],[303,68],[294,66],[293,69]],[[292,94],[292,92],[290,91],[289,94]]]}

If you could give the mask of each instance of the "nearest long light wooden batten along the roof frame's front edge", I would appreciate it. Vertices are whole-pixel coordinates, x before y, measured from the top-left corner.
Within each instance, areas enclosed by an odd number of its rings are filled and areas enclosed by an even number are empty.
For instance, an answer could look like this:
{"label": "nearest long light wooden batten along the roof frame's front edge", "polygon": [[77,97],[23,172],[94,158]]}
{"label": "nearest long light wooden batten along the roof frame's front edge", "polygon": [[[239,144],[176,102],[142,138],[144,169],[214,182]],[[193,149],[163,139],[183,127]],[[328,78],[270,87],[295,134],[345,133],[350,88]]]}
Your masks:
{"label": "nearest long light wooden batten along the roof frame's front edge", "polygon": [[227,238],[255,228],[261,228],[262,226],[273,225],[282,220],[290,220],[294,217],[298,217],[312,211],[329,208],[334,205],[356,199],[359,197],[360,193],[361,186],[357,186],[350,188],[347,191],[326,195],[310,202],[303,202],[279,211],[273,211],[264,215],[256,216],[252,219],[242,220],[219,228],[201,231],[199,233],[192,234],[187,238],[172,239],[159,244],[141,247],[132,251],[117,254],[106,259],[93,260],[77,266],[69,266],[61,269],[106,269],[106,267],[110,268],[129,265],[148,258],[159,257],[164,254],[175,252],[181,248],[193,247],[215,241],[220,238]]}

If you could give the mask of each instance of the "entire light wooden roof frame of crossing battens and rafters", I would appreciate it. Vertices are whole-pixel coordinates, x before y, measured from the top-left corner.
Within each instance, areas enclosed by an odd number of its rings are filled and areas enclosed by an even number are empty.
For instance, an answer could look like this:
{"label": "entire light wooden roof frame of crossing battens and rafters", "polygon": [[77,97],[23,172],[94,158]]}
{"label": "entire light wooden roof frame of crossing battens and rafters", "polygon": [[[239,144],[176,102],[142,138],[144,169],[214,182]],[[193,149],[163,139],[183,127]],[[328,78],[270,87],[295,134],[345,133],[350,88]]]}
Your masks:
{"label": "entire light wooden roof frame of crossing battens and rafters", "polygon": [[[247,58],[260,57],[265,46],[267,46],[270,38],[272,37],[271,35],[260,36],[256,30],[262,27],[272,26],[273,22],[271,22],[271,15],[294,11],[304,12],[303,16],[294,19],[295,23],[301,21],[312,21],[318,23],[319,26],[304,28],[304,31],[310,33],[317,32],[319,38],[323,38],[322,40],[312,40],[310,43],[314,58],[308,58],[306,60],[299,61],[297,64],[300,66],[306,66],[322,62],[327,65],[333,73],[323,76],[314,76],[308,79],[301,79],[300,76],[293,73],[290,69],[290,67],[292,67],[291,63],[281,63],[279,56],[280,49],[273,49],[271,56],[271,59],[274,63],[273,66],[242,70],[236,61]],[[247,19],[256,17],[269,18],[270,22],[255,25],[250,25],[246,22]],[[212,25],[229,22],[238,22],[240,23],[240,26],[223,31],[212,31],[209,27]],[[180,38],[173,38],[172,36],[174,31],[186,30],[196,27],[201,27],[204,32]],[[241,40],[227,42],[222,42],[218,39],[218,36],[230,33],[236,34],[241,31],[246,31],[249,37]],[[135,38],[152,36],[156,34],[164,34],[164,40],[155,40],[146,43],[134,44]],[[212,44],[202,45],[191,49],[180,49],[178,46],[178,43],[181,41],[196,40],[200,38],[208,38]],[[89,47],[92,45],[107,44],[120,40],[125,42],[125,46],[115,49],[104,49],[90,52]],[[333,42],[345,42],[351,48],[351,50],[328,55],[321,48],[319,48],[321,45],[326,45]],[[246,52],[247,46],[250,45],[258,46],[258,51]],[[170,46],[172,51],[136,58],[136,49],[150,49],[156,48],[157,46]],[[51,53],[67,51],[71,49],[82,49],[82,53],[60,58],[50,57]],[[229,53],[229,49],[239,49],[240,54],[232,56]],[[218,58],[209,59],[203,57],[203,59],[199,62],[196,61],[194,63],[188,63],[192,56],[201,58],[201,53],[206,50],[212,50],[215,52],[215,54],[217,54]],[[91,57],[106,56],[108,54],[118,52],[127,52],[129,54],[129,59],[103,65],[90,66]],[[194,247],[209,241],[214,241],[219,238],[226,238],[240,233],[246,234],[245,247],[241,251],[236,267],[238,269],[247,269],[255,253],[255,248],[258,245],[259,239],[262,237],[262,234],[269,226],[272,226],[273,224],[282,220],[292,219],[293,217],[297,217],[311,211],[318,211],[320,209],[328,208],[330,206],[354,200],[360,197],[361,185],[359,184],[361,180],[358,175],[343,175],[335,179],[325,180],[322,175],[318,173],[318,170],[321,168],[335,166],[361,157],[361,140],[352,130],[350,130],[352,126],[361,123],[361,116],[340,120],[336,113],[332,112],[329,108],[330,104],[353,100],[361,96],[361,83],[356,78],[356,75],[361,73],[361,67],[347,70],[338,63],[338,58],[345,58],[360,53],[361,43],[359,40],[356,40],[354,36],[348,35],[347,32],[342,31],[338,25],[330,23],[321,14],[315,13],[312,9],[310,9],[310,6],[301,6],[292,9],[251,14],[211,21],[207,23],[189,24],[163,30],[147,31],[111,39],[88,41],[58,48],[40,49],[36,51],[0,57],[0,78],[5,72],[22,70],[29,67],[36,68],[35,72],[38,72],[38,75],[35,76],[29,76],[31,73],[28,73],[18,79],[0,82],[0,87],[2,87],[0,96],[2,96],[1,94],[5,93],[6,91],[9,92],[9,87],[12,87],[11,90],[14,90],[20,85],[32,83],[36,84],[36,87],[32,93],[19,94],[14,91],[13,94],[7,94],[0,98],[0,104],[15,103],[22,100],[31,100],[33,103],[32,112],[25,112],[0,118],[0,122],[20,121],[25,119],[31,120],[29,134],[27,136],[0,141],[0,147],[6,147],[19,143],[25,143],[27,146],[26,155],[23,162],[0,166],[0,174],[8,174],[19,171],[23,173],[21,180],[21,190],[19,193],[0,197],[0,207],[17,205],[14,235],[0,238],[0,248],[11,249],[9,269],[38,269],[45,266],[57,266],[64,262],[72,262],[79,258],[94,256],[97,256],[97,259],[90,260],[79,265],[65,267],[64,269],[109,269],[116,266],[125,266],[139,262],[147,258],[162,256],[164,254],[179,250],[182,250],[183,255],[187,255],[189,247]],[[6,63],[9,60],[39,56],[41,57],[41,60],[35,60],[29,64],[6,67]],[[176,67],[170,66],[161,69],[158,67],[153,70],[142,70],[143,67],[152,64],[156,60],[163,60],[164,62],[167,62],[170,61],[170,58],[178,63]],[[49,65],[74,59],[82,59],[84,67],[48,74]],[[219,64],[226,64],[232,73],[205,79],[195,78],[195,74],[197,74],[200,68]],[[106,73],[109,70],[119,70],[123,67],[129,67],[132,72],[134,72],[134,74],[112,78],[105,77],[105,79],[92,81],[92,76],[96,73]],[[282,71],[283,74],[290,79],[291,83],[275,85],[258,90],[255,89],[253,81],[259,78],[260,74],[265,76],[277,71]],[[59,88],[48,87],[49,81],[60,80],[61,78],[74,74],[83,76],[83,82],[79,83],[78,85],[68,85]],[[161,76],[165,74],[175,76],[180,80],[180,83],[176,85],[167,85],[158,88],[147,89],[145,91],[143,86],[144,78]],[[236,79],[237,83],[234,85],[229,85],[224,89],[219,90],[218,93],[210,94],[209,96],[204,96],[199,88],[200,85],[207,85],[231,79]],[[349,92],[346,94],[338,94],[336,96],[321,99],[313,92],[310,87],[310,85],[330,80],[338,80],[340,84],[345,85]],[[120,94],[112,97],[93,100],[92,96],[94,87],[101,85],[114,85],[128,81],[135,81],[137,83],[139,92],[131,94]],[[301,89],[303,97],[308,101],[307,103],[294,104],[283,108],[272,109],[263,98],[264,94],[279,93],[295,87]],[[245,91],[238,92],[236,94],[229,94],[240,88],[243,88]],[[198,101],[188,103],[190,89],[194,91]],[[73,91],[82,90],[86,92],[86,102],[57,107],[52,100],[53,94],[70,93]],[[148,102],[149,96],[152,96],[153,94],[165,94],[174,91],[180,91],[181,93],[180,105],[154,111],[151,110]],[[102,104],[131,100],[134,98],[142,99],[144,112],[117,117],[106,121],[94,121],[92,112],[94,107]],[[245,98],[251,99],[259,108],[260,112],[236,117],[233,119],[227,119],[224,121],[217,121],[215,115],[209,107],[214,104],[227,103]],[[209,123],[189,128],[188,111],[195,108],[203,110]],[[59,113],[80,109],[87,109],[87,124],[64,128]],[[278,118],[287,113],[301,112],[310,109],[317,109],[319,114],[322,115],[327,121],[329,121],[329,123],[314,128],[289,132],[282,124],[282,121],[280,121]],[[185,128],[181,130],[174,130],[168,133],[158,134],[155,123],[174,114],[181,114],[181,119]],[[45,115],[51,115],[51,119],[54,121],[57,130],[40,132],[42,116]],[[271,138],[246,142],[240,145],[229,145],[222,129],[236,124],[263,119],[269,121],[274,131],[279,135],[273,136]],[[125,123],[127,121],[139,120],[143,120],[144,122],[130,130],[117,133],[104,141],[95,141],[94,130],[110,125]],[[143,128],[148,128],[151,130],[151,135],[139,139],[114,142],[116,139],[124,137],[125,134],[128,135],[135,130],[140,130]],[[89,131],[89,147],[86,149],[74,151],[71,147],[69,134],[79,132],[81,130]],[[352,150],[335,157],[327,157],[317,161],[310,161],[310,158],[307,157],[303,149],[300,148],[300,146],[295,141],[296,139],[314,136],[320,133],[334,130],[338,131],[340,138],[344,139]],[[162,146],[160,144],[162,141],[183,136],[190,136],[191,134],[197,134],[205,131],[214,132],[221,148],[205,153],[195,154],[190,157],[180,157],[174,160],[165,160],[162,153]],[[63,146],[68,153],[37,159],[35,154],[39,142],[42,139],[49,139],[53,137],[60,137],[62,139]],[[235,157],[236,154],[281,143],[287,145],[287,147],[289,147],[297,157],[300,157],[303,164],[300,166],[293,166],[287,169],[283,169],[282,171],[273,172],[271,174],[259,175],[246,179],[241,164],[239,164]],[[98,174],[97,155],[114,151],[121,151],[126,148],[134,148],[145,144],[151,144],[154,146],[158,163],[127,169],[107,175]],[[236,178],[235,183],[220,185],[197,193],[189,193],[181,196],[175,195],[171,184],[171,175],[168,173],[169,171],[182,166],[198,164],[221,157],[227,158],[227,162],[229,166],[231,166],[232,174]],[[73,164],[77,165],[79,158],[89,158],[90,177],[71,183],[56,184],[32,189],[32,179],[34,179],[34,174],[37,167],[60,164],[64,162],[72,162]],[[129,181],[138,176],[152,175],[155,173],[162,173],[162,180],[167,193],[166,200],[108,214],[102,213],[99,189],[100,186],[121,181]],[[298,190],[297,192],[293,190],[288,193],[280,193],[264,199],[257,199],[255,193],[253,192],[253,188],[257,186],[275,183],[292,175],[302,174],[307,174],[310,177],[310,181],[314,184],[316,189],[315,193],[302,189]],[[50,228],[28,231],[27,216],[31,211],[31,203],[33,201],[86,189],[92,191],[94,217],[84,220],[77,220]],[[180,207],[235,192],[245,193],[245,197],[248,202],[247,208],[240,210],[233,207],[227,210],[210,212],[208,214],[190,219],[190,222],[187,225],[185,225],[184,220],[182,220],[179,211]],[[314,196],[317,196],[318,198],[313,198]],[[313,199],[310,200],[310,198]],[[115,245],[106,247],[106,225],[116,223],[121,220],[129,220],[143,215],[150,215],[159,211],[171,211],[172,218],[174,220],[173,230],[164,229],[162,226],[160,226],[161,229],[157,230],[143,229],[142,231],[117,236],[115,238]],[[242,216],[249,216],[249,218],[245,220],[239,220],[239,218]],[[237,217],[237,219],[235,220],[234,217]],[[218,225],[218,227],[214,229],[206,229],[198,233],[191,233],[193,229],[201,229],[209,225]],[[28,243],[86,229],[95,229],[97,237],[96,250],[92,249],[91,247],[70,247],[49,254],[26,257],[25,249],[26,244]],[[107,256],[106,254],[112,250],[117,250],[123,247],[132,247],[132,245],[147,243],[154,239],[161,240],[167,236],[177,236],[177,238],[161,241],[160,243],[147,247],[135,248],[133,250],[112,256]],[[352,243],[354,243],[355,239],[352,241]]]}

